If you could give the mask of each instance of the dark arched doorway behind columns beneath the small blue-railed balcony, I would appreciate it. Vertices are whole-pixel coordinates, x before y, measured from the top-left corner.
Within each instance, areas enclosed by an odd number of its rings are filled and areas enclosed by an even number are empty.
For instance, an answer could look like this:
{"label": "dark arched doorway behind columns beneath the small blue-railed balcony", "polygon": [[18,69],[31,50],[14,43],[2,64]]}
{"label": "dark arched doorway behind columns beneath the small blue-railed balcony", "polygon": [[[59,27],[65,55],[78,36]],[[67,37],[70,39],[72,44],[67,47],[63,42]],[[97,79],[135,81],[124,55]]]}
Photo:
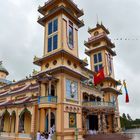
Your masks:
{"label": "dark arched doorway behind columns beneath the small blue-railed balcony", "polygon": [[[50,127],[53,127],[55,125],[55,115],[53,112],[51,112],[51,120],[50,120]],[[48,132],[49,130],[49,119],[48,119],[48,114],[46,116],[46,131]]]}

